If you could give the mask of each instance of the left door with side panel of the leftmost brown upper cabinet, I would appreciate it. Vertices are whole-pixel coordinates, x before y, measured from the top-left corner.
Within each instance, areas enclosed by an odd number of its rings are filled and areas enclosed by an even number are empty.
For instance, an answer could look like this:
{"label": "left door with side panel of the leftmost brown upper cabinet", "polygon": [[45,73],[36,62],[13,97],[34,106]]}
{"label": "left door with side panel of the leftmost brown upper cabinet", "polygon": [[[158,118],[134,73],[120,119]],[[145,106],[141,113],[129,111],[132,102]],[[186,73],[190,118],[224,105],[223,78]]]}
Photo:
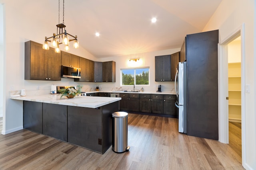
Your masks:
{"label": "left door with side panel of the leftmost brown upper cabinet", "polygon": [[27,41],[25,43],[25,80],[47,80],[48,50],[42,44]]}

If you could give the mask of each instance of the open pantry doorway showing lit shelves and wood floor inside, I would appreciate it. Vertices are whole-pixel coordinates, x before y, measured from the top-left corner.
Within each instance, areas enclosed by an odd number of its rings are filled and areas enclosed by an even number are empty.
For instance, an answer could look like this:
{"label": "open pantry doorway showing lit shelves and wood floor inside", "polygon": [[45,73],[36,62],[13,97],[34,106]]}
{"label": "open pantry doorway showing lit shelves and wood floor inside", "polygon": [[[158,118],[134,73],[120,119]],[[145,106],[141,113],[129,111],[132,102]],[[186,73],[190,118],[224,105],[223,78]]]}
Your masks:
{"label": "open pantry doorway showing lit shelves and wood floor inside", "polygon": [[242,158],[241,36],[228,43],[228,145]]}

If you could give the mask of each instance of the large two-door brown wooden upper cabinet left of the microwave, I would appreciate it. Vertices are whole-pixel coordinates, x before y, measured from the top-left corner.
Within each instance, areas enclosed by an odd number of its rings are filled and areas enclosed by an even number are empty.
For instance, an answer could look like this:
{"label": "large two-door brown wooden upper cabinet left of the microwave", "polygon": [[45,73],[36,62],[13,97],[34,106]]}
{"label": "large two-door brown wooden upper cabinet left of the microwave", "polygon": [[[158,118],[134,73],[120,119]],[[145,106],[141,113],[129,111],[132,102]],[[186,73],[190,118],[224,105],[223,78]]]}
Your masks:
{"label": "large two-door brown wooden upper cabinet left of the microwave", "polygon": [[42,49],[42,44],[25,42],[25,80],[61,80],[61,55],[54,48]]}

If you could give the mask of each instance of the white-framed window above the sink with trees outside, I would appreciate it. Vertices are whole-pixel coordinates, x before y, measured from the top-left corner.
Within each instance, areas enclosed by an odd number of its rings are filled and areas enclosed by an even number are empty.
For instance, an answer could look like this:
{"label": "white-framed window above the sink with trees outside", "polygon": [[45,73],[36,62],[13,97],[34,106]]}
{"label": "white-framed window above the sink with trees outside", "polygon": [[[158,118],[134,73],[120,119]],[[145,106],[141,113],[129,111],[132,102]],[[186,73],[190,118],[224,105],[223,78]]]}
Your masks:
{"label": "white-framed window above the sink with trees outside", "polygon": [[121,86],[149,84],[149,68],[121,69]]}

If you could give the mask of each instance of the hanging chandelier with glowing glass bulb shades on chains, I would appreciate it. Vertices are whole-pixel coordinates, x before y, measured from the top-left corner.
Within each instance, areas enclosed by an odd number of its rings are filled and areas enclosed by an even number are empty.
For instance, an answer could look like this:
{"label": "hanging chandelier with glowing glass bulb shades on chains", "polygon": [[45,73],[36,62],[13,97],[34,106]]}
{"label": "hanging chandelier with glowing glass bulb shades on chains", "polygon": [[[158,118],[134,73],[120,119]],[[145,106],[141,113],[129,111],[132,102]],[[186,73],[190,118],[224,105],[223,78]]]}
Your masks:
{"label": "hanging chandelier with glowing glass bulb shades on chains", "polygon": [[[60,23],[60,0],[59,0],[59,23],[57,26],[57,33],[53,33],[52,37],[45,37],[45,41],[43,44],[43,49],[49,49],[49,43],[51,43],[52,47],[55,47],[55,53],[60,53],[60,44],[64,44],[64,50],[69,51],[69,42],[74,41],[73,47],[75,49],[79,48],[79,42],[77,41],[77,36],[70,35],[67,33],[64,25],[64,0],[63,0],[63,22]],[[63,30],[64,29],[64,30]],[[69,39],[68,35],[74,39]]]}

